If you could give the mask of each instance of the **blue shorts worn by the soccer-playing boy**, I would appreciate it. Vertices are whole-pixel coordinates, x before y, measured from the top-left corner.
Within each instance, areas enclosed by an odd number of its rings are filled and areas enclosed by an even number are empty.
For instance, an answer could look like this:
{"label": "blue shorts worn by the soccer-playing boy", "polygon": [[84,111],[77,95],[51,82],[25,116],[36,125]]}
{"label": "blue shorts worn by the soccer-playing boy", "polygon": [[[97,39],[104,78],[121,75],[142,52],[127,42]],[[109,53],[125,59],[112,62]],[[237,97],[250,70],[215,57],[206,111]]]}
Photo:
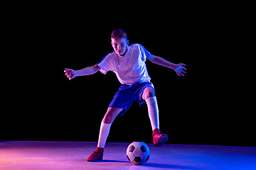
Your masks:
{"label": "blue shorts worn by the soccer-playing boy", "polygon": [[142,99],[142,94],[146,87],[151,87],[154,89],[154,86],[151,82],[136,83],[132,85],[122,84],[119,91],[114,95],[112,102],[110,103],[109,108],[123,108],[118,116],[122,116],[132,105],[132,102],[137,100],[139,106],[145,101]]}

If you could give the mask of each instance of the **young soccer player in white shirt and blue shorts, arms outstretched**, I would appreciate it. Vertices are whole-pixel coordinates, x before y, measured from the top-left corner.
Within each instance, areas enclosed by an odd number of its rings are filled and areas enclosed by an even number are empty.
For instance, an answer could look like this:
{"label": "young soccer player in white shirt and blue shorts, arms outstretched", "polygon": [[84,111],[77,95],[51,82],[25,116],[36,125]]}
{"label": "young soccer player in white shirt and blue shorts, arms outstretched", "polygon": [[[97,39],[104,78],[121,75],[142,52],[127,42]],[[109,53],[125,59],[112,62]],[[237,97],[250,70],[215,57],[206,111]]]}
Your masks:
{"label": "young soccer player in white shirt and blue shorts, arms outstretched", "polygon": [[107,108],[107,113],[105,113],[102,119],[97,148],[88,157],[87,161],[89,162],[102,160],[105,143],[114,118],[117,115],[123,115],[136,99],[139,105],[146,101],[148,106],[154,145],[161,146],[166,143],[168,140],[167,135],[162,134],[159,130],[159,109],[154,93],[154,86],[150,82],[145,62],[147,59],[155,64],[174,69],[178,76],[184,76],[186,73],[185,64],[173,64],[161,57],[151,55],[140,44],[129,45],[127,33],[122,29],[112,31],[111,44],[114,50],[107,54],[102,61],[95,64],[95,66],[85,67],[80,70],[65,69],[64,71],[68,79],[95,74],[98,71],[103,74],[112,71],[117,75],[117,79],[122,84],[119,91],[114,95],[109,108]]}

